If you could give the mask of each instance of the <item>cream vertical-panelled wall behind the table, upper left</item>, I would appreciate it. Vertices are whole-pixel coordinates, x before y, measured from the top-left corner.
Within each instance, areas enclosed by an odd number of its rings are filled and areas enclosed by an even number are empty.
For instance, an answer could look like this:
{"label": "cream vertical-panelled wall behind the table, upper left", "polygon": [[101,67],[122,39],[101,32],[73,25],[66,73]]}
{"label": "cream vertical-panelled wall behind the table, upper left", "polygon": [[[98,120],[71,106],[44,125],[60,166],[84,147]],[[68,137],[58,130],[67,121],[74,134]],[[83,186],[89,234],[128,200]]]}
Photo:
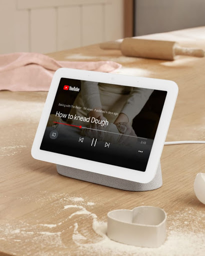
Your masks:
{"label": "cream vertical-panelled wall behind the table, upper left", "polygon": [[0,53],[46,53],[121,37],[123,0],[0,0]]}

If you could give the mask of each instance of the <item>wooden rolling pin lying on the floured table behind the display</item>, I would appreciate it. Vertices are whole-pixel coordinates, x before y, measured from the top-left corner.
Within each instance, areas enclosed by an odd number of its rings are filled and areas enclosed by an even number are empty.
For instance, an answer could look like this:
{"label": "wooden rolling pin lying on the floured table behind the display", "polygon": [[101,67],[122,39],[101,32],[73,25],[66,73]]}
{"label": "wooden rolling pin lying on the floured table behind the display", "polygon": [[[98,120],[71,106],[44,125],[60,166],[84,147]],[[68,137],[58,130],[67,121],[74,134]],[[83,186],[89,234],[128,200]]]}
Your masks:
{"label": "wooden rolling pin lying on the floured table behind the display", "polygon": [[149,40],[127,37],[122,40],[100,43],[101,49],[119,49],[125,56],[173,60],[175,55],[203,57],[199,48],[182,47],[174,41]]}

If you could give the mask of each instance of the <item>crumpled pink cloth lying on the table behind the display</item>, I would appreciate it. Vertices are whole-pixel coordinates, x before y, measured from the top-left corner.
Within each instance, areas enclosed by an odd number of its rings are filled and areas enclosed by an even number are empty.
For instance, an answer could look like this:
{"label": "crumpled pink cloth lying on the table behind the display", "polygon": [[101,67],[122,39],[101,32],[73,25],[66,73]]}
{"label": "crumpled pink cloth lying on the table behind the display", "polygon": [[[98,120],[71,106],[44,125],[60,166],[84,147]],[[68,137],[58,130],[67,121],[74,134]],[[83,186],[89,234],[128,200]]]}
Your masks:
{"label": "crumpled pink cloth lying on the table behind the display", "polygon": [[0,55],[0,90],[47,91],[59,67],[111,72],[121,65],[113,61],[56,61],[34,52]]}

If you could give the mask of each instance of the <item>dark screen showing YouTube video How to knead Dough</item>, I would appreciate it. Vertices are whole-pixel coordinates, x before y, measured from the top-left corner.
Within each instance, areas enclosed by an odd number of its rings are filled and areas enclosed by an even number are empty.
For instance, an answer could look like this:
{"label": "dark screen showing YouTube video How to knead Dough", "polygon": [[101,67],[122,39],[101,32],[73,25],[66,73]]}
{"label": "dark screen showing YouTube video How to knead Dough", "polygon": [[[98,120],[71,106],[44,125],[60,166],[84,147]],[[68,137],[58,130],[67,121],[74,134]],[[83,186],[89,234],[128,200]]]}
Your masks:
{"label": "dark screen showing YouTube video How to knead Dough", "polygon": [[145,171],[165,97],[163,90],[61,78],[40,149]]}

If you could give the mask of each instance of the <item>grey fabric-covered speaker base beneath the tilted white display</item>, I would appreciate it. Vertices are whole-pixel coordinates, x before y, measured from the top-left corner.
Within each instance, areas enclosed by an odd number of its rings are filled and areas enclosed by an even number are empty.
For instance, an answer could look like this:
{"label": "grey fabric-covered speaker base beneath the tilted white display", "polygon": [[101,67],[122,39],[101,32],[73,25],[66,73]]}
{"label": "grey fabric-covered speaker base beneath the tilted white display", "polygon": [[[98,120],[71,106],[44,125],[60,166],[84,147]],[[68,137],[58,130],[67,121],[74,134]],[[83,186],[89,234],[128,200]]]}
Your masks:
{"label": "grey fabric-covered speaker base beneath the tilted white display", "polygon": [[154,178],[148,183],[139,183],[127,179],[116,178],[87,170],[76,169],[56,164],[57,172],[61,175],[76,178],[104,186],[114,187],[129,191],[148,191],[159,188],[162,185],[161,165],[159,162]]}

